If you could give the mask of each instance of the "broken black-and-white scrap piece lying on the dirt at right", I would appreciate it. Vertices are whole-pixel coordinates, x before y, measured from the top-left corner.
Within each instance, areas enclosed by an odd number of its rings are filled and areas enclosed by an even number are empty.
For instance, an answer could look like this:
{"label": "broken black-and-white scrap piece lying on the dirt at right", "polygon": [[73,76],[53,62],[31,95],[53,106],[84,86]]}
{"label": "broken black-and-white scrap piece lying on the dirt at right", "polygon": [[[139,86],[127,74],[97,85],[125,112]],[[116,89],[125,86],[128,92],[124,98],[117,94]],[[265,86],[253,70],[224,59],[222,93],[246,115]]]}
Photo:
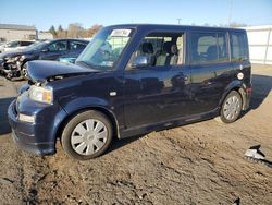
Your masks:
{"label": "broken black-and-white scrap piece lying on the dirt at right", "polygon": [[261,162],[272,168],[272,161],[265,159],[265,155],[260,150],[261,145],[251,146],[246,150],[245,157],[251,161]]}

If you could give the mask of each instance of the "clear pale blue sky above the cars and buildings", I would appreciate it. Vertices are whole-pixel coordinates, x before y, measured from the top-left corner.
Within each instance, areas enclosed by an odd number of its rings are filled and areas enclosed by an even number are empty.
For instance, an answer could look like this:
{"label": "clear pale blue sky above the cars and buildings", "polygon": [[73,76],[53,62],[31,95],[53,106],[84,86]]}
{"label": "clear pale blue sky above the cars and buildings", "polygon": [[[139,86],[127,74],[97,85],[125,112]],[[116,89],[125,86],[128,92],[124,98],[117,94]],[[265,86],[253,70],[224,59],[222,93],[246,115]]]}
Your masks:
{"label": "clear pale blue sky above the cars and buildings", "polygon": [[159,23],[272,25],[272,0],[1,0],[0,24],[51,25]]}

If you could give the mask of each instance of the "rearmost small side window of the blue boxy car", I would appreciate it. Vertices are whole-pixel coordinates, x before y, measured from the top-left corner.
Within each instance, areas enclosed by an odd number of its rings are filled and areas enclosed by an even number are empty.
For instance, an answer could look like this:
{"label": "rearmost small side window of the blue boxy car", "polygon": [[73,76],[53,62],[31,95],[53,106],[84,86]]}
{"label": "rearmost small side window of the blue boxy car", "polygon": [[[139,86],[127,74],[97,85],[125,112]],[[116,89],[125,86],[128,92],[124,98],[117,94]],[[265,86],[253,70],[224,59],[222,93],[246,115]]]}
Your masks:
{"label": "rearmost small side window of the blue boxy car", "polygon": [[244,33],[231,33],[232,60],[248,59],[247,39]]}

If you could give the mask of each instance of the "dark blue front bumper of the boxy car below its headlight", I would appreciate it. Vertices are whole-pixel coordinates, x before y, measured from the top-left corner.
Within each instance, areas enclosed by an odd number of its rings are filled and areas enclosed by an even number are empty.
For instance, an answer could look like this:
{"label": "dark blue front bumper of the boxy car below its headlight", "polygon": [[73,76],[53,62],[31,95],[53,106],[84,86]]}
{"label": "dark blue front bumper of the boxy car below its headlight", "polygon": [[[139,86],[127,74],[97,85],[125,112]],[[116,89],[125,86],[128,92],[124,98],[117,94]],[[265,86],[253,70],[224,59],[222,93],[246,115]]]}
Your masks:
{"label": "dark blue front bumper of the boxy car below its headlight", "polygon": [[[22,100],[20,105],[16,100],[11,102],[8,116],[13,141],[18,147],[35,155],[54,154],[57,131],[66,112],[58,106],[42,108],[36,104],[29,99]],[[18,120],[18,113],[26,110],[35,114],[35,123]]]}

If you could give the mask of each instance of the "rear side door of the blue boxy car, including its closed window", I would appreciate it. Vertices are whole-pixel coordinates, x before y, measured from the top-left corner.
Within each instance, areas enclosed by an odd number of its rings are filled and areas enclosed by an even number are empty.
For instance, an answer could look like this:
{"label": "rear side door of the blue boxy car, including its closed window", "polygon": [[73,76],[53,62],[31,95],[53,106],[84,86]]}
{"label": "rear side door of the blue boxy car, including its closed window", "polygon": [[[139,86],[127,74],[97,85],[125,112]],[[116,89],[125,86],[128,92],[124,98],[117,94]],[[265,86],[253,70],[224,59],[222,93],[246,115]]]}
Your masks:
{"label": "rear side door of the blue boxy car, including its closed window", "polygon": [[189,39],[191,113],[199,114],[218,108],[233,69],[225,32],[191,32]]}

